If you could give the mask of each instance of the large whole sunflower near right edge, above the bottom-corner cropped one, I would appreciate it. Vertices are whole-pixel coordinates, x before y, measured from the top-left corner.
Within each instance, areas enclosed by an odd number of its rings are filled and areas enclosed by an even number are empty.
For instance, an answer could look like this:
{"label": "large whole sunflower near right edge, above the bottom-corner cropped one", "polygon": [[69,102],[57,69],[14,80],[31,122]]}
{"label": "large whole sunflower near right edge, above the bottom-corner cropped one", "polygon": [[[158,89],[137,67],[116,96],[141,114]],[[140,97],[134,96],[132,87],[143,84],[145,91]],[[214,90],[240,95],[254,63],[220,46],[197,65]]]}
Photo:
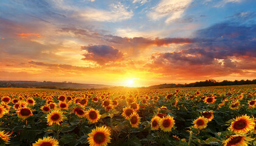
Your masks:
{"label": "large whole sunflower near right edge, above the bottom-corner cropped one", "polygon": [[246,114],[244,116],[236,117],[230,125],[230,130],[235,134],[245,134],[251,130],[254,130],[254,119],[251,119]]}

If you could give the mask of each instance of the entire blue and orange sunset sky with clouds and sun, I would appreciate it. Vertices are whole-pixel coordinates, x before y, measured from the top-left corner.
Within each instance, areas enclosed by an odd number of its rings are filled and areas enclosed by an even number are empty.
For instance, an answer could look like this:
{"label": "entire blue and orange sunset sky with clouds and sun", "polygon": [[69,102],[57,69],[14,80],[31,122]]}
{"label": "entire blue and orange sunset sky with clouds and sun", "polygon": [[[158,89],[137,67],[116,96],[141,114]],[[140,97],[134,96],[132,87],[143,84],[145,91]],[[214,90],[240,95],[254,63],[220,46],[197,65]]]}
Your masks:
{"label": "entire blue and orange sunset sky with clouds and sun", "polygon": [[252,80],[255,7],[255,0],[1,0],[0,80]]}

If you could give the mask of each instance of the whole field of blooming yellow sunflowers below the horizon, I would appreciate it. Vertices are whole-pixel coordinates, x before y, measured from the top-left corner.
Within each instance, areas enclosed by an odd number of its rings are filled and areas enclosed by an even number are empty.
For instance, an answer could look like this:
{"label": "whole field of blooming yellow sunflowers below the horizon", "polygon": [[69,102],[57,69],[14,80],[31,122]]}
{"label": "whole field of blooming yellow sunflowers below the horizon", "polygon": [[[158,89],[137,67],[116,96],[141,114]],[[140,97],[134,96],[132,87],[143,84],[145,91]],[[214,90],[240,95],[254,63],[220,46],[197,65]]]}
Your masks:
{"label": "whole field of blooming yellow sunflowers below the horizon", "polygon": [[0,145],[256,145],[256,85],[0,88]]}

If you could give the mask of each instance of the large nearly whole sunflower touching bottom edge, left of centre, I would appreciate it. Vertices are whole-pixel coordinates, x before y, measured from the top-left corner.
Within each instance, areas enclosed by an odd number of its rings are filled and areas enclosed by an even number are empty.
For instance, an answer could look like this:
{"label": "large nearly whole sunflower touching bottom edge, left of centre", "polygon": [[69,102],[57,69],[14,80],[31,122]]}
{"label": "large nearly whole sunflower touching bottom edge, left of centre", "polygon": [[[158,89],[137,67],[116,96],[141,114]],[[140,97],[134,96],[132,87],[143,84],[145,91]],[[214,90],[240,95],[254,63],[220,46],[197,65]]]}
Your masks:
{"label": "large nearly whole sunflower touching bottom edge, left of centre", "polygon": [[107,127],[96,127],[88,134],[87,139],[90,146],[106,146],[110,143],[110,130]]}

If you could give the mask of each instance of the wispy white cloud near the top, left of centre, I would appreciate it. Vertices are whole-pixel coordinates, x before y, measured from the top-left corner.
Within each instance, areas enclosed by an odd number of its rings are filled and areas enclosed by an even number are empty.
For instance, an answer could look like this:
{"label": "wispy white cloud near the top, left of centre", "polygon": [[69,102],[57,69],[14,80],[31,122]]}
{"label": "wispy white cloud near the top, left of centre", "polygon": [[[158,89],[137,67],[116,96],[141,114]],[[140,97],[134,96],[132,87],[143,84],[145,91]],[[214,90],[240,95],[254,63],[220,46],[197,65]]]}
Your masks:
{"label": "wispy white cloud near the top, left of centre", "polygon": [[125,19],[130,19],[133,16],[133,12],[127,10],[121,2],[118,4],[110,5],[111,10],[99,10],[88,8],[84,12],[80,13],[79,15],[84,17],[88,20],[93,21],[107,21],[107,22],[116,22],[116,21],[123,21]]}

